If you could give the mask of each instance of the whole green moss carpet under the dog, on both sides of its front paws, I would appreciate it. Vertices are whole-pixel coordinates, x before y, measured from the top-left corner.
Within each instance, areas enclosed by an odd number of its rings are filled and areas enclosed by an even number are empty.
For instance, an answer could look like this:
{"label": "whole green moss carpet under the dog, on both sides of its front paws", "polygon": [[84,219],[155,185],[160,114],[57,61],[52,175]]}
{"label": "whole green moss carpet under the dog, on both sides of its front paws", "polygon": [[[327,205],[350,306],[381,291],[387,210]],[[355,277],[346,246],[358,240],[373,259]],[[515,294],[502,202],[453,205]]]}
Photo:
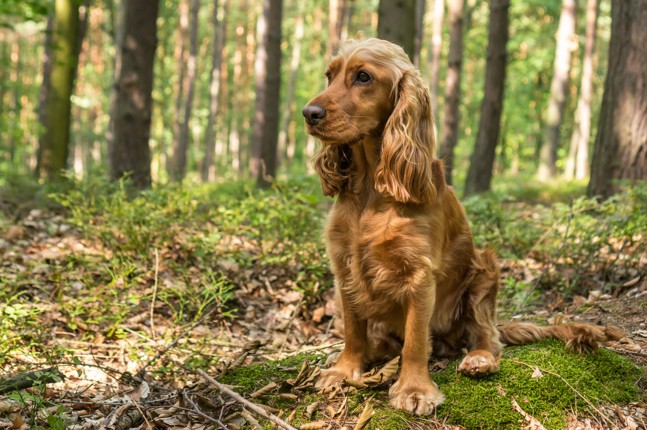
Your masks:
{"label": "whole green moss carpet under the dog, on both sides of its front paws", "polygon": [[[294,365],[300,368],[303,360],[315,364],[325,360],[325,356],[300,354],[278,361],[253,363],[228,374],[222,382],[244,385],[245,388],[238,391],[250,393],[270,381],[294,378],[298,372],[281,371],[277,366]],[[599,354],[580,356],[567,350],[564,343],[551,339],[505,349],[501,370],[485,378],[464,376],[456,371],[460,360],[451,362],[443,372],[433,375],[433,380],[447,396],[446,402],[438,408],[437,419],[461,425],[468,430],[519,429],[522,417],[512,409],[514,398],[524,411],[540,420],[547,429],[561,429],[566,425],[567,411],[587,409],[586,402],[579,397],[576,399],[573,389],[557,376],[543,372],[543,378],[532,378],[531,368],[514,363],[513,360],[559,374],[594,404],[622,405],[641,397],[642,371],[630,361],[604,349]],[[417,424],[413,427],[429,426],[430,417],[412,418],[389,407],[386,391],[362,390],[350,393],[348,398],[349,417],[357,416],[362,403],[371,399],[375,415],[369,425],[370,429],[402,430],[410,428],[411,421]],[[326,396],[318,396],[316,392],[303,394],[296,402],[270,396],[270,400],[265,403],[277,409],[296,407],[294,424],[300,425],[310,421],[302,418],[302,414],[305,413],[305,407],[315,400],[321,402],[320,411],[325,411],[325,407],[330,404]],[[333,405],[340,400],[338,397],[332,402]],[[319,414],[318,418],[324,417]],[[351,424],[352,422],[354,420],[351,420]]]}

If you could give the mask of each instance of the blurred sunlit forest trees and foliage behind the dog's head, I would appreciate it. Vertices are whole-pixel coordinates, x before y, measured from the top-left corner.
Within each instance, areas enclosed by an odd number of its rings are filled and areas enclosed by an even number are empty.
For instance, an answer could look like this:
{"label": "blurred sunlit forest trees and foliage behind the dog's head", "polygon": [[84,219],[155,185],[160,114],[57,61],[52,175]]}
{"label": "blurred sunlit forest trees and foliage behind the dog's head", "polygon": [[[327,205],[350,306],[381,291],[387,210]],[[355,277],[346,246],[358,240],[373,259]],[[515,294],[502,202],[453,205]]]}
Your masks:
{"label": "blurred sunlit forest trees and foliage behind the dog's head", "polygon": [[647,175],[645,4],[8,0],[0,175],[131,171],[140,186],[311,175],[300,111],[362,30],[402,45],[430,82],[438,155],[459,191],[584,186],[590,163],[589,193],[608,195],[613,179]]}

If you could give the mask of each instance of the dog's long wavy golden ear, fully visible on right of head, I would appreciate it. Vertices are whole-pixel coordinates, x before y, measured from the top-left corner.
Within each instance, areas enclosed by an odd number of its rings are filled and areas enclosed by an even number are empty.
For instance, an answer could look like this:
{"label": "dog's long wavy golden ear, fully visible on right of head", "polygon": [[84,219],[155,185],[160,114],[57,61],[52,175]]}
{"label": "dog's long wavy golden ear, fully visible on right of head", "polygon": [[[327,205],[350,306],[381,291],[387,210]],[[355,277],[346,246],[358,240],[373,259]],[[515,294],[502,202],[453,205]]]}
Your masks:
{"label": "dog's long wavy golden ear, fully visible on right of head", "polygon": [[429,93],[420,73],[407,70],[398,82],[395,109],[384,129],[375,187],[399,202],[432,202],[436,198],[434,152]]}

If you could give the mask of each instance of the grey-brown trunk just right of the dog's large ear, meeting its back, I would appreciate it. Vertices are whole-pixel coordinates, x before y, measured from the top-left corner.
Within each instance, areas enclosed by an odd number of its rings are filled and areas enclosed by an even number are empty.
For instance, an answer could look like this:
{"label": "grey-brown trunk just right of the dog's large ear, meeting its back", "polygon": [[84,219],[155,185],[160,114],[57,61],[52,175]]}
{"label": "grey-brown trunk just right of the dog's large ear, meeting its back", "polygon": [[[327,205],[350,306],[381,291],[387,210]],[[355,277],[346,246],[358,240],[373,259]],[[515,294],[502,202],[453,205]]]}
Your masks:
{"label": "grey-brown trunk just right of the dog's large ear, meeting its back", "polygon": [[458,108],[461,105],[461,67],[463,65],[463,0],[450,0],[449,27],[444,124],[438,158],[443,160],[445,180],[448,185],[451,185],[454,147],[458,142],[458,126],[461,122],[461,113]]}

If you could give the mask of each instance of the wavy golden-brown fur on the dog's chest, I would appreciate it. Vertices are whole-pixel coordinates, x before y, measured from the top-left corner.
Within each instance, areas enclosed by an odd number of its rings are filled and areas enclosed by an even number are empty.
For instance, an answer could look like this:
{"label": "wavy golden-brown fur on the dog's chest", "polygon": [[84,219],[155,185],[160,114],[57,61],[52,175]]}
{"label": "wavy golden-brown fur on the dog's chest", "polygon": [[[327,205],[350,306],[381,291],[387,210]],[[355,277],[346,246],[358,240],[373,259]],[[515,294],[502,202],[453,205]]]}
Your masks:
{"label": "wavy golden-brown fur on the dog's chest", "polygon": [[406,297],[428,285],[430,226],[424,218],[335,203],[327,224],[328,253],[338,288],[358,316],[385,320],[402,314]]}

